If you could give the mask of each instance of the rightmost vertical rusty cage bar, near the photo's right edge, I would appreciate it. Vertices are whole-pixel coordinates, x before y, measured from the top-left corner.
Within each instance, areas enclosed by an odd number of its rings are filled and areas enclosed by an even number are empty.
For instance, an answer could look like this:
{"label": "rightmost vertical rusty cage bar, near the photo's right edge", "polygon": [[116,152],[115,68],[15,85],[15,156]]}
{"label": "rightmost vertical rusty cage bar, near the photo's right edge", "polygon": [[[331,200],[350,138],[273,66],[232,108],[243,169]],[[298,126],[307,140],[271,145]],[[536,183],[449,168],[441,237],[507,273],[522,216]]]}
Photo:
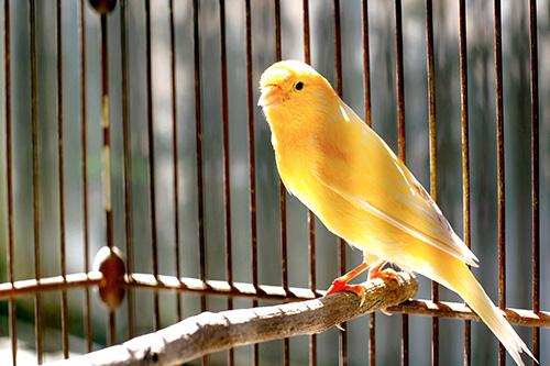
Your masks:
{"label": "rightmost vertical rusty cage bar, near the photo's right edge", "polygon": [[[531,95],[531,220],[532,220],[532,311],[540,311],[540,209],[539,209],[539,56],[537,0],[529,0],[530,95]],[[532,329],[532,354],[540,359],[540,328]],[[531,361],[531,365],[536,365]]]}

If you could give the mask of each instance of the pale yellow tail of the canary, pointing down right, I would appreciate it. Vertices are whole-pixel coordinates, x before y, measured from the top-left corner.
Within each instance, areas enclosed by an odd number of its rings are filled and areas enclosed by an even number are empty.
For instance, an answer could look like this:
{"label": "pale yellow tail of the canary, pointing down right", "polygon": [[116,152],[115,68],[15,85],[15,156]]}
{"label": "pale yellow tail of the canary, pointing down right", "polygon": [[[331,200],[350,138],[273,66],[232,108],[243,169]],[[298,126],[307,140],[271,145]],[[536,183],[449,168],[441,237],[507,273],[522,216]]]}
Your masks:
{"label": "pale yellow tail of the canary, pointing down right", "polygon": [[468,306],[475,311],[496,335],[498,341],[506,347],[516,364],[520,366],[525,365],[520,356],[522,352],[537,362],[524,341],[517,335],[516,331],[514,331],[508,321],[494,306],[493,301],[491,301],[466,265],[460,263],[460,265],[453,267],[455,267],[452,274],[454,280],[447,281],[447,285],[458,292]]}

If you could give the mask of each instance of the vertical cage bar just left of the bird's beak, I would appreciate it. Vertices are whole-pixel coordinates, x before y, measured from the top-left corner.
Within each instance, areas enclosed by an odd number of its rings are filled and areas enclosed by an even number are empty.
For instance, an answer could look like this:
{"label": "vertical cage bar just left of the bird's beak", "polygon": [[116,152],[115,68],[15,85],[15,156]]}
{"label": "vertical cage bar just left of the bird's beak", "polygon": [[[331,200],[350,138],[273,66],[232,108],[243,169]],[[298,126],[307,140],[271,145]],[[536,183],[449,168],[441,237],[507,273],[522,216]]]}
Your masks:
{"label": "vertical cage bar just left of the bird's beak", "polygon": [[[256,224],[256,159],[254,152],[254,95],[252,87],[252,18],[251,1],[244,0],[244,12],[246,22],[246,110],[249,114],[249,185],[250,185],[250,225],[252,243],[252,285],[257,289],[257,224]],[[257,300],[252,301],[257,307]],[[252,364],[260,362],[260,348],[257,344],[252,346]]]}

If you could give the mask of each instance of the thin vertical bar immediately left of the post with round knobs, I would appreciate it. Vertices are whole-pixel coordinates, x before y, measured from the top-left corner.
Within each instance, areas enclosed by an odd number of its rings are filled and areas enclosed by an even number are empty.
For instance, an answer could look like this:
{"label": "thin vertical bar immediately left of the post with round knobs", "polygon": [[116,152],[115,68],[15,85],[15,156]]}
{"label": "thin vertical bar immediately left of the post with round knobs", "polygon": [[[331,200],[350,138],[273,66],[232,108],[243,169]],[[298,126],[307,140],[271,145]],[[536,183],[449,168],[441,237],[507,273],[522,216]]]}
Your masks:
{"label": "thin vertical bar immediately left of the post with round knobs", "polygon": [[[87,131],[87,109],[86,109],[86,8],[85,0],[80,0],[80,118],[81,118],[81,162],[80,173],[82,175],[82,224],[84,224],[84,270],[90,270],[89,254],[89,226],[88,226],[88,131]],[[84,299],[84,330],[86,333],[86,350],[91,352],[91,299],[89,288],[85,288]]]}

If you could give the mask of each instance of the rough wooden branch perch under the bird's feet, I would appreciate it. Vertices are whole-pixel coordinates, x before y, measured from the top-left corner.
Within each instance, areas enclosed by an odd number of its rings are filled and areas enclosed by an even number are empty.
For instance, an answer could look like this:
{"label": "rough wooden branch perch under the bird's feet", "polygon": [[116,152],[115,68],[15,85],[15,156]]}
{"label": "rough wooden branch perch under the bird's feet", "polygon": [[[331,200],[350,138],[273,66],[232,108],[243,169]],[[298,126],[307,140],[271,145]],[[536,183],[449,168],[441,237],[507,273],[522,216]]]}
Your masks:
{"label": "rough wooden branch perch under the bird's feet", "polygon": [[416,278],[406,273],[399,273],[399,278],[364,282],[362,304],[354,293],[339,292],[273,307],[204,312],[155,333],[51,365],[180,365],[234,346],[315,334],[411,298],[418,289]]}

